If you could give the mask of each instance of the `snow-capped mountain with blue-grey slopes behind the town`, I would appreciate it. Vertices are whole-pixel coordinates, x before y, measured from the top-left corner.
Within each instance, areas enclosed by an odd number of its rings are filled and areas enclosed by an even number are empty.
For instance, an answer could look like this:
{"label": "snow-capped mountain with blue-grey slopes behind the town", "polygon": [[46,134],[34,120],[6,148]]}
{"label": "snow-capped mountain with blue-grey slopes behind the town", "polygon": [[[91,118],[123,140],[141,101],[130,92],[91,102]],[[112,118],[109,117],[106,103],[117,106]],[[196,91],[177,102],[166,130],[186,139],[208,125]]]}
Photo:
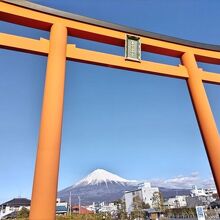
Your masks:
{"label": "snow-capped mountain with blue-grey slopes behind the town", "polygon": [[[77,204],[79,197],[81,204],[88,205],[93,202],[112,202],[123,197],[125,191],[138,188],[140,181],[127,180],[104,169],[97,169],[88,176],[58,192],[58,196],[69,201],[70,192],[72,203]],[[173,197],[176,194],[189,194],[187,189],[160,188],[164,198]]]}

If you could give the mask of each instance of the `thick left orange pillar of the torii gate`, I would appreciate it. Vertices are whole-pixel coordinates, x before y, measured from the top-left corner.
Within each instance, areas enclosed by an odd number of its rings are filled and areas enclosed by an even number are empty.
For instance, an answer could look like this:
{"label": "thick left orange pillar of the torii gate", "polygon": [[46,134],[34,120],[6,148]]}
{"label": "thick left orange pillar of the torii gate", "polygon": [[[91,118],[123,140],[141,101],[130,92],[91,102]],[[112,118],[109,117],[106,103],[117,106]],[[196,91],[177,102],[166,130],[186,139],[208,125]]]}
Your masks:
{"label": "thick left orange pillar of the torii gate", "polygon": [[66,43],[66,27],[54,24],[50,34],[30,220],[52,220],[56,215]]}

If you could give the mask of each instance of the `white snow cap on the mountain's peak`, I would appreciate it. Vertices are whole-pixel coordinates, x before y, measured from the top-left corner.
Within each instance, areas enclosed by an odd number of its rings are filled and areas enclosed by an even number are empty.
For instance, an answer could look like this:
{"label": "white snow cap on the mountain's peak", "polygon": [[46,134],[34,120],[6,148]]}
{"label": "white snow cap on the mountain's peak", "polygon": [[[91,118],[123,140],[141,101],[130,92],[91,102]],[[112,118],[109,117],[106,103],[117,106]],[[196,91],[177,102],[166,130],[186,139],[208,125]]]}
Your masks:
{"label": "white snow cap on the mountain's peak", "polygon": [[83,178],[81,181],[76,183],[76,185],[95,185],[95,184],[101,184],[101,183],[107,184],[108,182],[124,184],[128,182],[133,182],[133,181],[126,180],[104,169],[96,169],[92,173],[90,173],[88,176]]}

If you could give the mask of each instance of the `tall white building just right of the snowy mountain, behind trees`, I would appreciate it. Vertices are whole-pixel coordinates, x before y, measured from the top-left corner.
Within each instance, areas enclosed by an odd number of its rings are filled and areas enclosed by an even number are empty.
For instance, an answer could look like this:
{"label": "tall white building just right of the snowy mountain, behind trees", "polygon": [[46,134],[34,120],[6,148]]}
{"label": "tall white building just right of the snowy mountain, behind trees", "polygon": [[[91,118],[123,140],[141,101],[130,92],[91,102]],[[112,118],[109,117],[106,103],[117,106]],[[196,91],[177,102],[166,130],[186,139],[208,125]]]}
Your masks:
{"label": "tall white building just right of the snowy mountain, behind trees", "polygon": [[150,183],[143,183],[139,185],[138,189],[125,192],[125,208],[126,212],[130,214],[133,211],[134,198],[139,197],[142,202],[149,204],[151,208],[153,196],[155,192],[159,192],[158,187],[151,187]]}

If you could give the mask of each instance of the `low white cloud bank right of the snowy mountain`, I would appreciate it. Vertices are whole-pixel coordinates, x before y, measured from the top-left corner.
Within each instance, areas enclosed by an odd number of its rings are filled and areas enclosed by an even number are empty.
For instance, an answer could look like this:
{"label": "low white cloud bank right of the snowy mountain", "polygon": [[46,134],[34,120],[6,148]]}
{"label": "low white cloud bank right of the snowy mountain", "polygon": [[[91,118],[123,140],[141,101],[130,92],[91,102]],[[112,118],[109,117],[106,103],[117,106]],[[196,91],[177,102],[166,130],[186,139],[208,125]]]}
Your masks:
{"label": "low white cloud bank right of the snowy mountain", "polygon": [[169,179],[151,179],[150,182],[154,186],[166,188],[192,188],[193,185],[199,187],[214,187],[212,177],[204,179],[199,176],[198,172],[193,172],[188,176],[179,175]]}

